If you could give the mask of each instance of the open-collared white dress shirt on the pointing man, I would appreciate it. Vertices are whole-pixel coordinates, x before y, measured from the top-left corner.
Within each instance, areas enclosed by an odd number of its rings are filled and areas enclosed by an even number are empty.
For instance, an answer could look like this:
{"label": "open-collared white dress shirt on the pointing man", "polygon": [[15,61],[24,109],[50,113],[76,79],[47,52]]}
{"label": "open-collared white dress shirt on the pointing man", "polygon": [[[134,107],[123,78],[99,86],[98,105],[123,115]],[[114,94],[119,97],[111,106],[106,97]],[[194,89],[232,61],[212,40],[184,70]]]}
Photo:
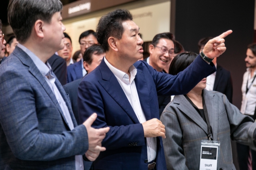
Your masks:
{"label": "open-collared white dress shirt on the pointing man", "polygon": [[[134,67],[134,65],[132,65],[129,68],[129,71],[130,71],[130,81],[129,81],[128,74],[113,67],[107,61],[106,57],[104,57],[104,61],[108,66],[108,68],[116,76],[116,79],[118,80],[120,86],[122,87],[140,123],[146,122],[147,120],[142,110],[142,107],[140,105],[140,99],[139,99],[135,81],[134,81],[135,76],[137,74],[137,69]],[[151,162],[156,158],[156,138],[147,138],[147,150],[148,150],[148,162]]]}

